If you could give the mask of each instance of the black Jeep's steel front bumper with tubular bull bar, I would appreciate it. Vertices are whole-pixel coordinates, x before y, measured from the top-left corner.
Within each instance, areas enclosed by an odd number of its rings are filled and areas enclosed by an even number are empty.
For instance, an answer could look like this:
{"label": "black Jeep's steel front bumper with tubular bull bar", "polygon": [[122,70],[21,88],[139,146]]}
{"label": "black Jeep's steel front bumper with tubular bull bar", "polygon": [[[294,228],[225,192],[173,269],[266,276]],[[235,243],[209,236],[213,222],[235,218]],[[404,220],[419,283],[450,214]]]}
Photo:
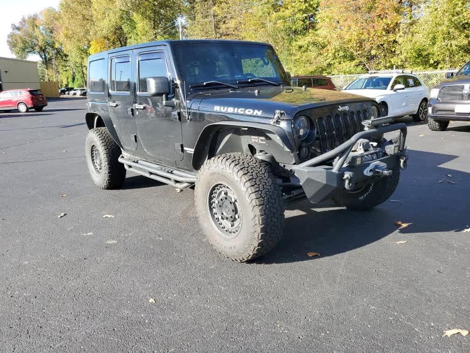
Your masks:
{"label": "black Jeep's steel front bumper with tubular bull bar", "polygon": [[[363,162],[357,166],[344,166],[344,162],[351,154],[353,146],[359,139],[380,136],[384,133],[400,130],[397,141],[387,143],[396,144],[398,152],[393,155],[385,153],[385,147],[381,149],[382,157],[369,162]],[[321,156],[312,158],[299,165],[291,167],[292,172],[300,181],[300,185],[313,203],[334,198],[335,195],[347,192],[348,190],[359,189],[369,185],[380,178],[388,178],[380,172],[384,165],[388,171],[401,167],[406,167],[406,125],[395,124],[377,129],[361,131],[342,143],[334,150]],[[335,160],[333,166],[325,165],[327,161]],[[323,165],[322,165],[323,164]]]}

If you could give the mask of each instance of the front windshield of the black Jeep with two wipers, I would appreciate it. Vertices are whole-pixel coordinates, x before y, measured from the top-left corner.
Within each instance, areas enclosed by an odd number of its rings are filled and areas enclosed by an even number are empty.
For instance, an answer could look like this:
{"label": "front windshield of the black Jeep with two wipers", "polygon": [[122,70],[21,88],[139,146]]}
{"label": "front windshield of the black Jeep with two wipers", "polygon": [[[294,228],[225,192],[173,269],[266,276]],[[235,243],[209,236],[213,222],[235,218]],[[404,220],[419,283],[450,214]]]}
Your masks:
{"label": "front windshield of the black Jeep with two wipers", "polygon": [[[289,79],[274,49],[246,43],[188,43],[174,46],[175,60],[186,85],[208,81],[237,84],[250,78],[263,78],[289,85]],[[268,85],[262,80],[243,84]],[[216,84],[211,85],[213,89]],[[221,85],[222,86],[222,85]]]}

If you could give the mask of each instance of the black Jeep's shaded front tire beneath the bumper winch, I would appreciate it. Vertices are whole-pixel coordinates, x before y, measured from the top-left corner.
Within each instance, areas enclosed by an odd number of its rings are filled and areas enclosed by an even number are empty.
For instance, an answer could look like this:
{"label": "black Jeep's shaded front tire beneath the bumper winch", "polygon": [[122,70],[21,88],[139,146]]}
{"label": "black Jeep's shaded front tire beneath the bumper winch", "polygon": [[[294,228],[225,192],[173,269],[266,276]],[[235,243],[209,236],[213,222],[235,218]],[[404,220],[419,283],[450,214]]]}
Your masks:
{"label": "black Jeep's shaded front tire beneath the bumper winch", "polygon": [[367,211],[388,200],[400,180],[400,168],[392,169],[390,177],[383,177],[359,192],[345,192],[337,203],[355,211]]}

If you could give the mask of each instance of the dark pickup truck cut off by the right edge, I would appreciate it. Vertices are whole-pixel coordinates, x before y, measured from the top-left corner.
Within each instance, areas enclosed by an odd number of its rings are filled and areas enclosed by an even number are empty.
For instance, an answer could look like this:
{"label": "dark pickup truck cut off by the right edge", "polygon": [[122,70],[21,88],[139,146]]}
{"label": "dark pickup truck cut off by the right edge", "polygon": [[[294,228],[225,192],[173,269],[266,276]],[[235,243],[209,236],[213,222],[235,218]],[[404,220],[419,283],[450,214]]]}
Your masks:
{"label": "dark pickup truck cut off by the right edge", "polygon": [[445,131],[451,120],[470,121],[470,62],[433,87],[428,104],[428,127]]}

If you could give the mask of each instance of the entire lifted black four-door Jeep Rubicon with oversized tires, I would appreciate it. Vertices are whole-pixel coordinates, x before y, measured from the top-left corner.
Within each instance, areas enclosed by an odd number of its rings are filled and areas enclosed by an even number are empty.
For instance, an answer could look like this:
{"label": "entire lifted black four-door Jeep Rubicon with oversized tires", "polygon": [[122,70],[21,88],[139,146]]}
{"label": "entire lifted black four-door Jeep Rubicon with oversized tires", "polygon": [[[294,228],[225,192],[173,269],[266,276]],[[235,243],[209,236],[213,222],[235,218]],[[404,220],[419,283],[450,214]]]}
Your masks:
{"label": "entire lifted black four-door Jeep Rubicon with oversized tires", "polygon": [[406,167],[404,124],[390,125],[372,99],[291,87],[268,44],[119,48],[89,57],[88,83],[93,181],[119,188],[130,170],[194,186],[210,244],[235,261],[276,245],[288,202],[367,210],[392,195]]}

